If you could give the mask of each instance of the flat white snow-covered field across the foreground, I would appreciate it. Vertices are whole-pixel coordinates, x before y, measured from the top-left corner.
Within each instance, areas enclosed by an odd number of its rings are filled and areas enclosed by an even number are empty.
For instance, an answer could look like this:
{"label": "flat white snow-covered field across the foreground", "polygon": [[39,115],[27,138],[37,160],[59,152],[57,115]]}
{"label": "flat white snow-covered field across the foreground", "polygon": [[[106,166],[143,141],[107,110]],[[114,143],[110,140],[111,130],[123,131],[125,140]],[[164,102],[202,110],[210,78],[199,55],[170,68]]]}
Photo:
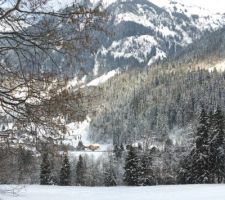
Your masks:
{"label": "flat white snow-covered field across the foreground", "polygon": [[[12,186],[0,186],[3,188]],[[14,186],[16,188],[16,186]],[[1,200],[224,200],[225,185],[152,187],[60,187],[26,186],[16,196],[1,194]]]}

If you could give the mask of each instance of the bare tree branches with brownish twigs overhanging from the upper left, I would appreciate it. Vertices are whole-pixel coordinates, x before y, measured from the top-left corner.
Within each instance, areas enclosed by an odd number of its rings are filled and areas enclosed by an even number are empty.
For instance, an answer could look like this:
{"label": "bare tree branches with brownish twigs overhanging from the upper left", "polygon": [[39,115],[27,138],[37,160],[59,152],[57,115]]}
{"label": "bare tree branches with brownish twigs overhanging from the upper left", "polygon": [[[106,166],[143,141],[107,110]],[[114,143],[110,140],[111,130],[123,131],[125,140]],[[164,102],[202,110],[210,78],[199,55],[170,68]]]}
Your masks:
{"label": "bare tree branches with brownish twigs overhanging from the upper left", "polygon": [[77,3],[47,11],[47,2],[16,0],[0,11],[0,115],[17,130],[35,126],[55,135],[65,132],[64,116],[83,119],[87,96],[79,90],[68,93],[66,75],[45,70],[43,61],[58,68],[56,53],[70,60],[94,52],[93,31],[104,32],[105,13],[100,6]]}

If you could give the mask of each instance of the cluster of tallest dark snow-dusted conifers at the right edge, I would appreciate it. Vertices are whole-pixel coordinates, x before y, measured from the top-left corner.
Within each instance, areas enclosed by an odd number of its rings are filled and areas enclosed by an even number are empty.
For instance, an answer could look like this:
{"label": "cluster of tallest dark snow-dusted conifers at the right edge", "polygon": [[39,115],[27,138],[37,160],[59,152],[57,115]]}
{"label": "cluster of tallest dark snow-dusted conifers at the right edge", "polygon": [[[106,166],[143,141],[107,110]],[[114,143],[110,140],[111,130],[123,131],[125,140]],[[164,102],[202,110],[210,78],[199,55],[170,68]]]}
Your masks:
{"label": "cluster of tallest dark snow-dusted conifers at the right edge", "polygon": [[224,116],[204,109],[199,117],[195,144],[182,160],[180,183],[222,183],[225,176]]}

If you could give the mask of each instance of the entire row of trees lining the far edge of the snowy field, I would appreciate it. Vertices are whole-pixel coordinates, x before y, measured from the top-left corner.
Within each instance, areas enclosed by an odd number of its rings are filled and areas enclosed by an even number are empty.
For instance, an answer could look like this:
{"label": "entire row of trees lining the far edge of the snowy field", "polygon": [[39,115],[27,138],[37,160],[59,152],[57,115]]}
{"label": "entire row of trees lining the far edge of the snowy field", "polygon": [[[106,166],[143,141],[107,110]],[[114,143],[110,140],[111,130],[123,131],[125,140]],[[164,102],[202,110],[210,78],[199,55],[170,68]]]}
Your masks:
{"label": "entire row of trees lining the far edge of the snowy field", "polygon": [[[186,133],[185,133],[186,134]],[[76,186],[149,186],[223,183],[225,177],[224,114],[203,108],[186,146],[170,138],[161,146],[114,145],[95,157],[46,149],[41,156],[19,147],[8,159],[1,148],[1,184]],[[77,156],[77,153],[79,156]],[[4,156],[7,159],[4,159]]]}

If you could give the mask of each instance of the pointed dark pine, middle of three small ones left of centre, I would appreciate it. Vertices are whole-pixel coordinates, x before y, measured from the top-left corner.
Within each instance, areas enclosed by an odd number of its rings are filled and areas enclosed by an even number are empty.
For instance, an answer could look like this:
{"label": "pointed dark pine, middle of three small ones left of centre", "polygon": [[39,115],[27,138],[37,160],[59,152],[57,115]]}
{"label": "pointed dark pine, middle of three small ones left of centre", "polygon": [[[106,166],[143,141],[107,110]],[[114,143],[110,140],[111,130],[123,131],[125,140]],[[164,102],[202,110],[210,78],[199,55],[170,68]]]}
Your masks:
{"label": "pointed dark pine, middle of three small ones left of centre", "polygon": [[62,167],[60,170],[59,184],[64,186],[71,184],[70,162],[66,154],[64,155]]}

